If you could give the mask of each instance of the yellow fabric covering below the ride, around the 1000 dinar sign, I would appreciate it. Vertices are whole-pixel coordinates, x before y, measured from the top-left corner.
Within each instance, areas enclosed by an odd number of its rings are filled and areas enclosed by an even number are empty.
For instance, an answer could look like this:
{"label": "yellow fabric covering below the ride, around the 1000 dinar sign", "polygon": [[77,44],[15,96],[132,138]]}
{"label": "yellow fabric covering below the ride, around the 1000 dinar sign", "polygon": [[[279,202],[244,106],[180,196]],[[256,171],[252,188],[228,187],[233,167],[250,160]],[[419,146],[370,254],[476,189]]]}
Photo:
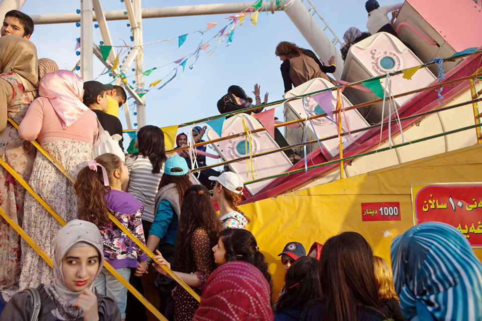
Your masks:
{"label": "yellow fabric covering below the ride, around the 1000 dinar sign", "polygon": [[[410,185],[482,182],[481,159],[482,145],[475,145],[240,206],[270,265],[274,294],[284,283],[278,254],[290,241],[308,251],[315,241],[355,231],[390,262],[393,238],[414,224]],[[366,202],[400,202],[401,221],[363,222],[360,203]],[[482,258],[482,249],[474,252]]]}

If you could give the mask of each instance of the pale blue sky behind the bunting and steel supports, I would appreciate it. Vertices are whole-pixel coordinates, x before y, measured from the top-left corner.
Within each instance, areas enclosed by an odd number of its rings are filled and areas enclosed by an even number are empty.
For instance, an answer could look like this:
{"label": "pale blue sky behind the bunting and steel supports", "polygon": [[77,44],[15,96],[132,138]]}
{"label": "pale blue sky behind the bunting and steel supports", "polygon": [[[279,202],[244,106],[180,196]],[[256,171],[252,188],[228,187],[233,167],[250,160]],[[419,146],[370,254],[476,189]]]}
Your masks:
{"label": "pale blue sky behind the bunting and steel supports", "polygon": [[[142,7],[159,8],[227,2],[234,1],[143,0]],[[34,15],[72,13],[80,9],[80,1],[51,0],[48,3],[49,6],[46,6],[45,1],[27,0],[22,11]],[[312,3],[340,39],[349,27],[366,30],[365,1],[312,0]],[[394,3],[398,3],[398,1],[380,1],[382,6]],[[101,6],[104,11],[125,10],[125,4],[120,0],[101,0]],[[144,19],[144,43],[202,30],[208,22],[219,22],[227,16],[230,15]],[[317,21],[319,22],[319,20]],[[123,45],[121,39],[127,44],[133,44],[130,40],[132,34],[130,28],[127,27],[127,20],[108,21],[107,24],[114,45]],[[211,38],[221,28],[221,25],[216,26],[207,32],[204,41]],[[74,51],[78,37],[80,37],[80,28],[77,28],[74,23],[37,25],[31,41],[37,47],[39,58],[51,58],[57,62],[60,68],[72,69],[79,60]],[[101,36],[98,29],[94,29],[93,38],[94,42],[99,44]],[[212,56],[201,51],[192,70],[187,66],[194,62],[193,59],[188,60],[185,72],[180,70],[171,83],[161,90],[154,89],[146,94],[147,124],[163,127],[215,115],[218,113],[217,100],[226,93],[230,85],[243,87],[253,97],[254,84],[258,83],[261,85],[262,97],[268,91],[269,101],[282,99],[284,90],[279,69],[281,61],[274,54],[276,45],[280,41],[294,42],[300,47],[310,49],[284,12],[260,13],[256,26],[244,24],[235,29],[232,43],[229,46],[226,47],[225,43],[221,43]],[[178,48],[177,39],[172,42],[147,45],[144,48],[144,69],[148,70],[182,58],[195,51],[199,42],[200,34],[193,34],[187,37],[180,48]],[[216,43],[212,43],[208,50],[215,45]],[[164,78],[172,69],[173,65],[170,65],[153,71],[150,76],[145,77],[146,87],[153,81]],[[102,71],[103,65],[94,57],[94,76],[100,75]],[[130,69],[128,75],[133,74],[134,72]],[[97,80],[108,83],[112,78],[104,75]],[[129,78],[130,84],[132,84],[132,80],[134,77]],[[129,101],[130,104],[133,103],[132,99]],[[276,110],[276,116],[280,119],[283,118],[282,108],[280,106]],[[123,111],[119,112],[119,118],[127,128]],[[132,110],[131,119],[133,123],[137,122]],[[125,136],[125,141],[128,143],[129,138],[127,135]]]}

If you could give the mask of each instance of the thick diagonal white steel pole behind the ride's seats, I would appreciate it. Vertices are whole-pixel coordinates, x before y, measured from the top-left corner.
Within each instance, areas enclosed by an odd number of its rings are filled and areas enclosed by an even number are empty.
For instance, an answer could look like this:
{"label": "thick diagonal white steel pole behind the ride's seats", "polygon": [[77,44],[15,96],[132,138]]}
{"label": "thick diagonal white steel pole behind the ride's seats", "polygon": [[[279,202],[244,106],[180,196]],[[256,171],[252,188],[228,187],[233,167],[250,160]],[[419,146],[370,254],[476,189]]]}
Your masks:
{"label": "thick diagonal white steel pole behind the ride's seats", "polygon": [[286,1],[283,9],[321,60],[327,63],[331,56],[335,56],[336,71],[333,76],[335,79],[340,79],[343,69],[341,53],[313,19],[308,9],[303,6],[300,0]]}

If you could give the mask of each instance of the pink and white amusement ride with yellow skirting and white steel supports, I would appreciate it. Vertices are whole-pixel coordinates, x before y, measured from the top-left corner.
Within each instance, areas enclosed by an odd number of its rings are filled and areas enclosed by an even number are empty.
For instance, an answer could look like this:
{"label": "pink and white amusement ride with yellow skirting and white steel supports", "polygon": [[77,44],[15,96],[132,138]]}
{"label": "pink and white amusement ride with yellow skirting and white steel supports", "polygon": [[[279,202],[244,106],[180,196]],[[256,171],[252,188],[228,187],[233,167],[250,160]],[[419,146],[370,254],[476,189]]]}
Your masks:
{"label": "pink and white amusement ride with yellow skirting and white steel supports", "polygon": [[[0,15],[20,9],[24,2],[3,0]],[[113,74],[135,63],[140,88],[144,87],[139,47],[143,19],[235,14],[252,6],[141,9],[140,0],[124,3],[134,49]],[[221,135],[213,129],[207,131],[207,143],[219,153],[221,164],[247,183],[240,208],[252,219],[248,228],[271,264],[275,289],[279,290],[283,274],[276,263],[277,254],[286,242],[296,240],[309,247],[314,241],[323,243],[334,234],[352,230],[367,238],[375,254],[390,261],[393,237],[422,220],[412,193],[415,184],[482,182],[477,106],[482,100],[482,34],[473,32],[482,29],[481,3],[460,0],[454,6],[451,0],[406,0],[393,26],[399,38],[388,33],[372,35],[352,45],[344,62],[335,48],[339,39],[309,0],[286,0],[279,6],[271,2],[262,7],[284,11],[322,60],[336,52],[335,63],[343,66],[333,75],[339,86],[313,79],[288,91],[283,101],[267,104],[284,103],[285,122],[276,127],[285,128],[287,141],[303,157],[295,165],[264,125],[248,113],[225,120]],[[321,19],[315,20],[316,16]],[[82,0],[80,17],[32,16],[35,24],[78,22],[79,18],[81,72],[89,80],[93,56],[98,56],[91,22],[97,21],[103,43],[111,45],[106,22],[126,19],[124,12],[104,12],[99,0]],[[111,52],[105,64],[111,66],[114,59]],[[141,127],[145,124],[145,97],[129,86],[126,89],[137,101]],[[324,104],[320,105],[315,95],[323,97]],[[459,196],[464,206],[473,203],[472,195]],[[428,212],[428,207],[423,211]],[[482,220],[482,212],[478,213],[473,220]],[[471,241],[477,235],[470,235],[467,229],[464,232],[474,247],[482,246],[482,240]],[[482,257],[480,249],[474,251]]]}

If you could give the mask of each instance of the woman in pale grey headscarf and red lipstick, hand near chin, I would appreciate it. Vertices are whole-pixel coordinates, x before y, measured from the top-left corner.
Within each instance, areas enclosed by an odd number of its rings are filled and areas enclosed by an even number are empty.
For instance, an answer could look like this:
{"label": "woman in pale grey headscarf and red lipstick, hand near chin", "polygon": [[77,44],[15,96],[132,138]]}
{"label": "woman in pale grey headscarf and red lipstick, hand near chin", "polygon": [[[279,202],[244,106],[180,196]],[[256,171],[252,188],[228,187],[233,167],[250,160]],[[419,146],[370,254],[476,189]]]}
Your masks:
{"label": "woman in pale grey headscarf and red lipstick, hand near chin", "polygon": [[[104,262],[97,226],[81,220],[70,221],[59,230],[54,243],[52,282],[35,289],[41,303],[38,320],[120,320],[121,312],[115,301],[96,293],[93,286]],[[5,307],[0,321],[29,321],[34,311],[29,292],[19,292]]]}

